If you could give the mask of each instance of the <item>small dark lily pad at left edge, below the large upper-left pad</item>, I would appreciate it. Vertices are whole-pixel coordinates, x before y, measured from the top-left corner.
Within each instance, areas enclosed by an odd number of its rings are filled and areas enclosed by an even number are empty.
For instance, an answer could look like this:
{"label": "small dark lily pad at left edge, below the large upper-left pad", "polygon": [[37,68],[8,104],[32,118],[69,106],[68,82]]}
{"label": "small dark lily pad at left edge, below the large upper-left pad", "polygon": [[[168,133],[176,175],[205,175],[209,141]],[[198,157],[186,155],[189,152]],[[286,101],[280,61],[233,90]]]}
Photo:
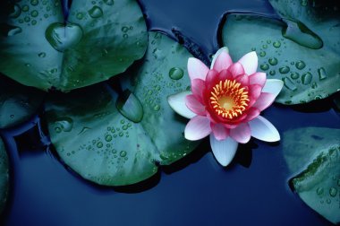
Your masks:
{"label": "small dark lily pad at left edge, below the large upper-left pad", "polygon": [[17,126],[35,114],[44,92],[23,86],[0,75],[0,128]]}

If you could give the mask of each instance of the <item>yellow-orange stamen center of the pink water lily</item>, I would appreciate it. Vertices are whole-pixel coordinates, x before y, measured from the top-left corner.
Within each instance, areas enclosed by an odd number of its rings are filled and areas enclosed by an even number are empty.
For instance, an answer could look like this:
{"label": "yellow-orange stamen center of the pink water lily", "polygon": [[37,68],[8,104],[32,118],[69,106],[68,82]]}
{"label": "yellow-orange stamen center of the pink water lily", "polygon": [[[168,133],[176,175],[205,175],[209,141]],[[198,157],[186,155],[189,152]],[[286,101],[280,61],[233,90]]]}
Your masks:
{"label": "yellow-orange stamen center of the pink water lily", "polygon": [[241,83],[226,79],[211,91],[210,103],[218,116],[233,119],[242,115],[249,103],[248,91]]}

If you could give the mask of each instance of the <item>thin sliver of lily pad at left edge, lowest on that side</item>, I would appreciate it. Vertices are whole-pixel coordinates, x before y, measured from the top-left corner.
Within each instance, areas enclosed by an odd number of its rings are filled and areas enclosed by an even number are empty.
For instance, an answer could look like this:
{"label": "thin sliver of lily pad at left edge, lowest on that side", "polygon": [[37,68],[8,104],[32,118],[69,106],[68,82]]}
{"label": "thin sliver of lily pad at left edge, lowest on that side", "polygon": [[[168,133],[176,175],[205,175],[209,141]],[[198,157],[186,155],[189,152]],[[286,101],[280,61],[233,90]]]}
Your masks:
{"label": "thin sliver of lily pad at left edge, lowest on that side", "polygon": [[8,157],[4,142],[0,138],[0,213],[4,211],[9,187]]}

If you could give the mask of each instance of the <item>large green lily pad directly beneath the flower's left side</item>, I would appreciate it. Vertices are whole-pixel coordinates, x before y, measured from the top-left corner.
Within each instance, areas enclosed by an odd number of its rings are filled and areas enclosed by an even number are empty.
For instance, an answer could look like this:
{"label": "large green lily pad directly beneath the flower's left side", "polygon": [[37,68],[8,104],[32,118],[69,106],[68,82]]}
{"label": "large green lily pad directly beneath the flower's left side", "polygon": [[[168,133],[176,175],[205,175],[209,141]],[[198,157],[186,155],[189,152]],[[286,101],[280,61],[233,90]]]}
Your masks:
{"label": "large green lily pad directly beneath the flower's left side", "polygon": [[[197,143],[183,137],[187,121],[166,100],[190,84],[188,57],[174,40],[150,32],[141,66],[125,74],[133,77],[129,95],[119,96],[103,84],[51,95],[48,131],[64,163],[100,185],[124,186],[154,175],[158,163],[170,164],[191,152]],[[182,75],[171,78],[173,68]]]}

